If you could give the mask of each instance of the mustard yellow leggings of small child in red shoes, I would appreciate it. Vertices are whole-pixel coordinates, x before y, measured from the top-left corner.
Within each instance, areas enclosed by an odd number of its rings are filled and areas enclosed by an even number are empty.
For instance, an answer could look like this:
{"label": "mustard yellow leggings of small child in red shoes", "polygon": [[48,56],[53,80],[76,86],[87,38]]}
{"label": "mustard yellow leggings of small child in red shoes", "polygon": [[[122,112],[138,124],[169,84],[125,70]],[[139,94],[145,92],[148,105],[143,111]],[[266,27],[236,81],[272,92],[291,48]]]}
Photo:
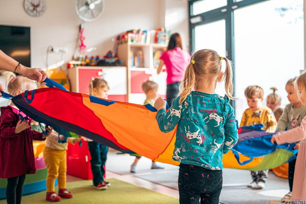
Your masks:
{"label": "mustard yellow leggings of small child in red shoes", "polygon": [[53,150],[45,147],[44,159],[48,169],[47,192],[53,192],[54,182],[57,178],[58,189],[66,189],[66,150]]}

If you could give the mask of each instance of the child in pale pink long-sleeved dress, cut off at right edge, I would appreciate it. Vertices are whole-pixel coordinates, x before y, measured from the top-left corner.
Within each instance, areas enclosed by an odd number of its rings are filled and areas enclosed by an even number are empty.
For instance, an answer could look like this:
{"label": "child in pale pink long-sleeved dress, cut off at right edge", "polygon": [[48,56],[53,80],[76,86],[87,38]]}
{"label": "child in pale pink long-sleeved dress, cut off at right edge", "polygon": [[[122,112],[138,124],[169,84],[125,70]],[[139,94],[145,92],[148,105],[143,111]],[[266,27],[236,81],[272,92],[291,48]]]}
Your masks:
{"label": "child in pale pink long-sleeved dress, cut off at right edge", "polygon": [[[287,86],[286,86],[287,87]],[[289,89],[286,91],[290,91]],[[303,106],[306,106],[306,72],[303,72],[296,80],[295,80],[295,93],[297,93],[298,99],[302,103]],[[291,93],[291,94],[290,94]],[[292,96],[292,90],[288,93]],[[293,92],[294,93],[294,92]],[[292,103],[292,98],[289,99],[290,103]],[[293,104],[292,104],[293,105]],[[297,106],[295,108],[299,108]],[[292,125],[292,123],[291,123]],[[291,127],[293,128],[293,127]],[[295,127],[289,131],[281,132],[280,134],[274,135],[271,138],[272,143],[284,144],[287,142],[297,142],[300,141],[299,145],[299,154],[296,158],[295,163],[295,171],[294,174],[297,175],[293,179],[293,188],[292,188],[292,201],[305,201],[306,200],[306,117],[302,119],[300,126]]]}

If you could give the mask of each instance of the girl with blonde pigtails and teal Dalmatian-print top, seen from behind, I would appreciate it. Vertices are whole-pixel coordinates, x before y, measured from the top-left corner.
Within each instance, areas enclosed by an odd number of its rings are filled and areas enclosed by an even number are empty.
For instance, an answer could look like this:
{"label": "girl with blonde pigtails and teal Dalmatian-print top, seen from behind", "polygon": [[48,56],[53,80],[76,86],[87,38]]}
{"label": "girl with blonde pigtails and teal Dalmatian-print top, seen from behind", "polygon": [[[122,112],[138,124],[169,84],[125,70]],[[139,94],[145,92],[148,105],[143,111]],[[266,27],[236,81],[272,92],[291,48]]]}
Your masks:
{"label": "girl with blonde pigtails and teal Dalmatian-print top, seen from behind", "polygon": [[[181,162],[178,188],[180,203],[219,203],[222,189],[222,155],[238,141],[233,98],[232,65],[214,50],[198,50],[191,57],[181,83],[181,94],[169,111],[158,98],[156,120],[162,132],[176,128],[173,160]],[[226,63],[221,72],[221,60]],[[215,94],[225,80],[224,97]]]}

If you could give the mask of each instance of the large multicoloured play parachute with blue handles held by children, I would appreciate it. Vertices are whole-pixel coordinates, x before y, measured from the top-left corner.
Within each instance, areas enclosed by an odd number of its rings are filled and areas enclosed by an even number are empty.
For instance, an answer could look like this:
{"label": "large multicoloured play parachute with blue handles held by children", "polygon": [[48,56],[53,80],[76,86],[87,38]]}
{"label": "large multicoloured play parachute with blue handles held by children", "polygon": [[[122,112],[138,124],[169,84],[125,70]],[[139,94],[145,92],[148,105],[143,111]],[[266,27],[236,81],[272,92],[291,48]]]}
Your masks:
{"label": "large multicoloured play parachute with blue handles held by children", "polygon": [[[137,153],[152,160],[178,165],[172,160],[176,128],[159,130],[156,109],[151,105],[109,101],[66,91],[47,79],[48,86],[26,91],[14,104],[28,117],[52,126],[57,132],[70,132],[126,153]],[[233,150],[223,155],[223,166],[246,170],[277,167],[294,158],[294,144],[272,145],[271,133],[254,127],[239,129],[240,139]]]}

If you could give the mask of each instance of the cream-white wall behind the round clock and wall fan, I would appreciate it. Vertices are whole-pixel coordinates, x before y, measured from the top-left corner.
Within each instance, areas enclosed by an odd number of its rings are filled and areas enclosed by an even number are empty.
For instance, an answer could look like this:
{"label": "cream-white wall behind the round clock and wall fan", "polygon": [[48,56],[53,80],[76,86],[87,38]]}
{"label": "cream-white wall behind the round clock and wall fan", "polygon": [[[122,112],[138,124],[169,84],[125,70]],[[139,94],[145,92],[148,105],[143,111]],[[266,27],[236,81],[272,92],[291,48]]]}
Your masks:
{"label": "cream-white wall behind the round clock and wall fan", "polygon": [[[105,0],[101,17],[85,23],[85,45],[87,48],[97,47],[97,50],[88,55],[102,57],[113,49],[112,38],[126,30],[164,27],[164,1]],[[24,11],[23,1],[0,1],[0,24],[31,27],[32,67],[46,67],[46,50],[49,45],[68,48],[68,53],[63,55],[64,61],[68,62],[72,57],[81,23],[75,11],[75,0],[45,2],[45,13],[39,17],[31,17]],[[60,54],[49,53],[49,65],[60,61],[60,57]]]}

